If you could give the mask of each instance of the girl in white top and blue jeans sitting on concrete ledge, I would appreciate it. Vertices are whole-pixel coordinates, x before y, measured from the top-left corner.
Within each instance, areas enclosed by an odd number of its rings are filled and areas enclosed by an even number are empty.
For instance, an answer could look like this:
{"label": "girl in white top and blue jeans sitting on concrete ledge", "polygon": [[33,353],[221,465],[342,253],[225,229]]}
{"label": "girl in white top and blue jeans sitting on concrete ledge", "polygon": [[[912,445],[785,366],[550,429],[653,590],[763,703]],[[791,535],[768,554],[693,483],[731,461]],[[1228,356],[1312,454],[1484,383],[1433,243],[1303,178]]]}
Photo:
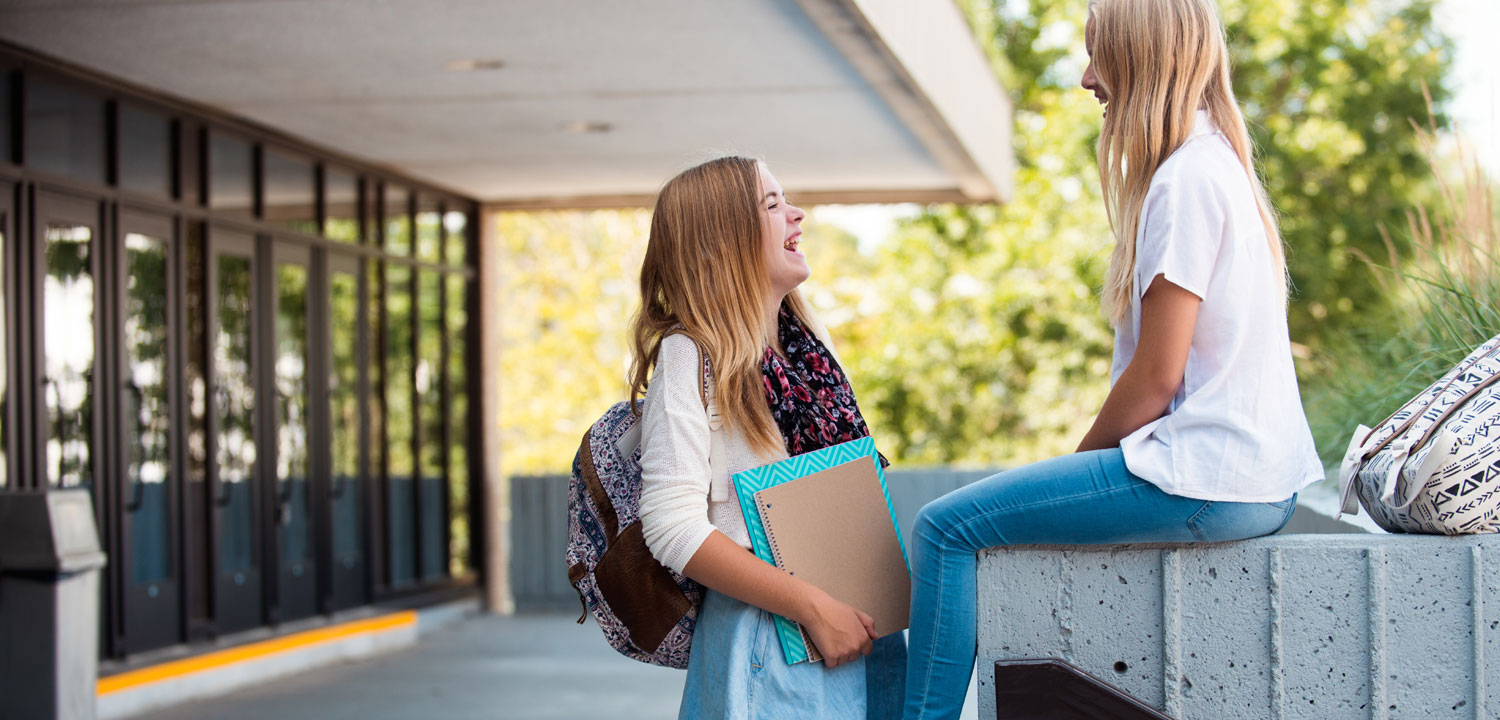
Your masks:
{"label": "girl in white top and blue jeans sitting on concrete ledge", "polygon": [[[1264,536],[1323,477],[1287,338],[1281,237],[1212,0],[1094,0],[1082,84],[1106,106],[1112,390],[1071,456],[922,508],[906,718],[957,717],[975,656],[975,552]],[[1107,638],[1096,642],[1108,642]]]}

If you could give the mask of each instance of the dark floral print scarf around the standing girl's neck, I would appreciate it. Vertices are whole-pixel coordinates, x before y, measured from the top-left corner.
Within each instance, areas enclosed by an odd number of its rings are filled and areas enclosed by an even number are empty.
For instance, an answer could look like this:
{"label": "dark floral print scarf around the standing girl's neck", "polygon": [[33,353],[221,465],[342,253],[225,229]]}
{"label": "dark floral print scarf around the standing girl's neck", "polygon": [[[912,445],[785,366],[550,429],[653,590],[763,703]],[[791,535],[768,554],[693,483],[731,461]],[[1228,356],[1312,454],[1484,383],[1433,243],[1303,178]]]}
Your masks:
{"label": "dark floral print scarf around the standing girl's neck", "polygon": [[[760,382],[786,453],[796,456],[870,435],[838,360],[786,304],[777,315],[777,336],[786,358],[765,348]],[[882,456],[880,465],[890,462]]]}

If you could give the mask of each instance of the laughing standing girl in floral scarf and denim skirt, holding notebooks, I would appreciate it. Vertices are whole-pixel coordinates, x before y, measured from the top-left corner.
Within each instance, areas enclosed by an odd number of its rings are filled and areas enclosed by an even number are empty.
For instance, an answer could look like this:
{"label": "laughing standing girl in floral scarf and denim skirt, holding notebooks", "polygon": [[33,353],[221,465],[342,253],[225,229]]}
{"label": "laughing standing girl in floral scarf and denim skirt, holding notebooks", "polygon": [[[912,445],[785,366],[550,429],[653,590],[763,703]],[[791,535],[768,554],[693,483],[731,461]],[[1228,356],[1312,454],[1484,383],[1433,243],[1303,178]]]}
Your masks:
{"label": "laughing standing girl in floral scarf and denim skirt, holding notebooks", "polygon": [[[651,214],[632,328],[640,528],[663,566],[708,588],[682,718],[900,717],[900,633],[876,640],[868,615],[756,558],[729,482],[870,434],[796,291],[810,274],[802,218],[748,158],[674,177]],[[771,614],[800,622],[825,662],[788,664]]]}

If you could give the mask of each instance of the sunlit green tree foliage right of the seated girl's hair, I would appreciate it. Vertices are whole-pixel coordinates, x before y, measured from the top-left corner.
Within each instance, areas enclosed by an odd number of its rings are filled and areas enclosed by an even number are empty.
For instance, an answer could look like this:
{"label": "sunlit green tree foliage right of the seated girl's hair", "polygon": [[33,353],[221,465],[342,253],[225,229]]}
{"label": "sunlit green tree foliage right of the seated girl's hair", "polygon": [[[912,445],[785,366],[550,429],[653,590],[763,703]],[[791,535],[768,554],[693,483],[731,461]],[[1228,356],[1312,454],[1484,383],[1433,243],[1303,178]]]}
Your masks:
{"label": "sunlit green tree foliage right of the seated girl's hair", "polygon": [[1314,350],[1380,310],[1358,258],[1383,254],[1382,228],[1434,200],[1412,124],[1428,117],[1424,88],[1448,98],[1452,46],[1434,4],[1224,3],[1234,88],[1288,248],[1292,336]]}

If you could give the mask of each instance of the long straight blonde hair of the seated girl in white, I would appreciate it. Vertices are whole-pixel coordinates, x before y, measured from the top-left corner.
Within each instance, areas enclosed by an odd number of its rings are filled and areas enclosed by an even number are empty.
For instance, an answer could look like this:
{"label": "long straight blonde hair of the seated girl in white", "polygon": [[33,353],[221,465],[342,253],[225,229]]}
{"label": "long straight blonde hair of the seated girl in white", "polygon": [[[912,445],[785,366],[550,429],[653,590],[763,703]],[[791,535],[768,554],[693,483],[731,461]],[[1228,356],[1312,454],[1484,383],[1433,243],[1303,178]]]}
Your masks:
{"label": "long straight blonde hair of the seated girl in white", "polygon": [[1108,96],[1100,134],[1100,184],[1114,231],[1104,310],[1119,324],[1136,288],[1136,232],[1150,177],[1192,134],[1204,110],[1245,166],[1266,226],[1282,309],[1287,261],[1281,232],[1256,174],[1245,116],[1230,87],[1228,46],[1212,0],[1092,0],[1089,56]]}

